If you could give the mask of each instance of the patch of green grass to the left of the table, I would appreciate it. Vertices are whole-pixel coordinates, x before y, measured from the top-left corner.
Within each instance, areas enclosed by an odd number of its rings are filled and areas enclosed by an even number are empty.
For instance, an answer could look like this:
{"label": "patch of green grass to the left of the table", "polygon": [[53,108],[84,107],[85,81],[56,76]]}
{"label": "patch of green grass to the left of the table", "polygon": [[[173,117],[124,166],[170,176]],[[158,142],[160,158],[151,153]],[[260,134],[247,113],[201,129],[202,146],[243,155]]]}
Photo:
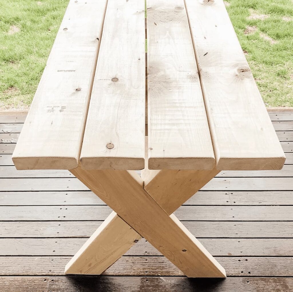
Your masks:
{"label": "patch of green grass to the left of the table", "polygon": [[0,0],[0,109],[29,107],[67,4]]}

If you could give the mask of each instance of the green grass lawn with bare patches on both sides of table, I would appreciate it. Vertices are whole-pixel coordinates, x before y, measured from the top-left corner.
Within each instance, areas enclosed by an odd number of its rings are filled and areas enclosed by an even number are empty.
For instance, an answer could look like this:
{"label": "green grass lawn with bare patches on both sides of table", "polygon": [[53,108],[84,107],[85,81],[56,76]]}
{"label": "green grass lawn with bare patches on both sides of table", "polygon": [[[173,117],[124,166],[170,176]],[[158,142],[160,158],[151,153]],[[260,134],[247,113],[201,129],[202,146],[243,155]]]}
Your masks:
{"label": "green grass lawn with bare patches on both sides of table", "polygon": [[[68,0],[0,0],[0,110],[28,109]],[[225,0],[265,104],[293,106],[293,0]]]}

